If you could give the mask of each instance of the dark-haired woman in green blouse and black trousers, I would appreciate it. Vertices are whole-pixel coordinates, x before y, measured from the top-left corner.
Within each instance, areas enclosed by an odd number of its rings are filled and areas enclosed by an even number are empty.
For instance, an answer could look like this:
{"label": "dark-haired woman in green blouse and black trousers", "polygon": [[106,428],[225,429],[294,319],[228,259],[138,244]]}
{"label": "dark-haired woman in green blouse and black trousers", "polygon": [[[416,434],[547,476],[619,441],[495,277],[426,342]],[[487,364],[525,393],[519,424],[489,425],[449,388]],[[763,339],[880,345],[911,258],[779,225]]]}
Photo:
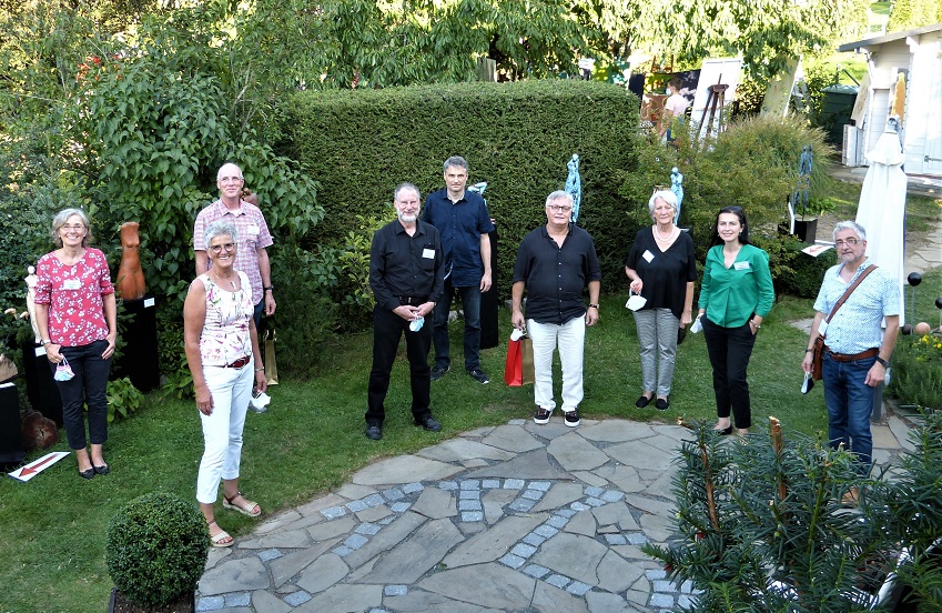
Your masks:
{"label": "dark-haired woman in green blouse and black trousers", "polygon": [[746,369],[756,333],[776,300],[769,254],[749,244],[749,225],[739,207],[720,209],[711,242],[697,318],[713,366],[718,416],[713,429],[730,434],[731,411],[737,430],[746,434],[752,425]]}

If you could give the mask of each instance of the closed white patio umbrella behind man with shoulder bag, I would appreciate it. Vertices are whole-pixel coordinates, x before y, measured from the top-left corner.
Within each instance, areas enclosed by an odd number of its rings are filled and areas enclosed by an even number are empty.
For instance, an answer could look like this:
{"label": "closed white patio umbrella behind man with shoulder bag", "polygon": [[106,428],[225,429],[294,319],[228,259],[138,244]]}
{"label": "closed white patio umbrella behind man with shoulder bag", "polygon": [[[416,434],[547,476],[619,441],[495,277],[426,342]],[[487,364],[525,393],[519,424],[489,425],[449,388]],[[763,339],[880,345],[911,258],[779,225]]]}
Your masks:
{"label": "closed white patio umbrella behind man with shoulder bag", "polygon": [[[894,120],[891,119],[891,123]],[[863,179],[857,222],[867,231],[867,257],[900,283],[900,325],[904,322],[906,174],[900,135],[893,127],[867,153],[870,169]]]}

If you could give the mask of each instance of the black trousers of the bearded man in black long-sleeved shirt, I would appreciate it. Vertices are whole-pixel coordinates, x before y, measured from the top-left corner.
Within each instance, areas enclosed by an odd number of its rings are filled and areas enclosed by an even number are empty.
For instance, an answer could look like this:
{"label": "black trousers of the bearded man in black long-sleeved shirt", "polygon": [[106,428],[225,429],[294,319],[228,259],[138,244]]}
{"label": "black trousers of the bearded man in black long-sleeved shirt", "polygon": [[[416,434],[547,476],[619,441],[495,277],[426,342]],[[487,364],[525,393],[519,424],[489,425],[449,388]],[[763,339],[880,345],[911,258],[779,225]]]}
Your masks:
{"label": "black trousers of the bearded man in black long-sleeved shirt", "polygon": [[[431,313],[429,313],[431,314]],[[432,348],[432,318],[418,332],[408,329],[409,322],[394,313],[373,308],[373,369],[369,371],[366,423],[382,425],[386,418],[386,392],[389,390],[389,373],[396,359],[399,339],[406,335],[406,356],[409,363],[412,384],[412,415],[418,422],[431,416],[428,408],[432,390],[432,369],[428,368],[428,350]]]}

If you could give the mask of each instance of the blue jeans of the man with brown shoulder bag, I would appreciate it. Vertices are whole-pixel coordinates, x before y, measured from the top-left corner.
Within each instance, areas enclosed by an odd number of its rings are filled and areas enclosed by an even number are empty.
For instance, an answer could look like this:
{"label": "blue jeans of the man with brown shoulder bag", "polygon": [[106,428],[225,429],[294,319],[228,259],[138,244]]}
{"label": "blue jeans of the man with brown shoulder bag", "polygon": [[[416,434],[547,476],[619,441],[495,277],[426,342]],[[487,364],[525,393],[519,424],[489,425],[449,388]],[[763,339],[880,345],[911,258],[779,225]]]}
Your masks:
{"label": "blue jeans of the man with brown shoulder bag", "polygon": [[853,362],[838,362],[824,353],[822,373],[824,402],[828,404],[828,439],[832,449],[843,444],[857,455],[862,472],[873,462],[873,438],[870,413],[873,412],[873,388],[864,383],[877,356]]}

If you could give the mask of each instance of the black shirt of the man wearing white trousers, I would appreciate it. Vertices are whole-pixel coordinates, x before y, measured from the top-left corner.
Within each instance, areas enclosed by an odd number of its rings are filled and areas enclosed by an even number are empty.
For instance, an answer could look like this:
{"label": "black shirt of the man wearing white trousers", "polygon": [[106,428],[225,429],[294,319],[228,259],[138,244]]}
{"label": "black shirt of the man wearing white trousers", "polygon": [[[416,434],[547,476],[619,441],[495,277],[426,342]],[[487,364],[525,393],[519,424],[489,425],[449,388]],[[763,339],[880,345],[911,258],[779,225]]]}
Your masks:
{"label": "black shirt of the man wearing white trousers", "polygon": [[588,232],[569,224],[563,247],[540,225],[527,234],[517,251],[514,283],[527,290],[526,318],[563,325],[586,314],[583,292],[589,281],[600,281],[596,247]]}

